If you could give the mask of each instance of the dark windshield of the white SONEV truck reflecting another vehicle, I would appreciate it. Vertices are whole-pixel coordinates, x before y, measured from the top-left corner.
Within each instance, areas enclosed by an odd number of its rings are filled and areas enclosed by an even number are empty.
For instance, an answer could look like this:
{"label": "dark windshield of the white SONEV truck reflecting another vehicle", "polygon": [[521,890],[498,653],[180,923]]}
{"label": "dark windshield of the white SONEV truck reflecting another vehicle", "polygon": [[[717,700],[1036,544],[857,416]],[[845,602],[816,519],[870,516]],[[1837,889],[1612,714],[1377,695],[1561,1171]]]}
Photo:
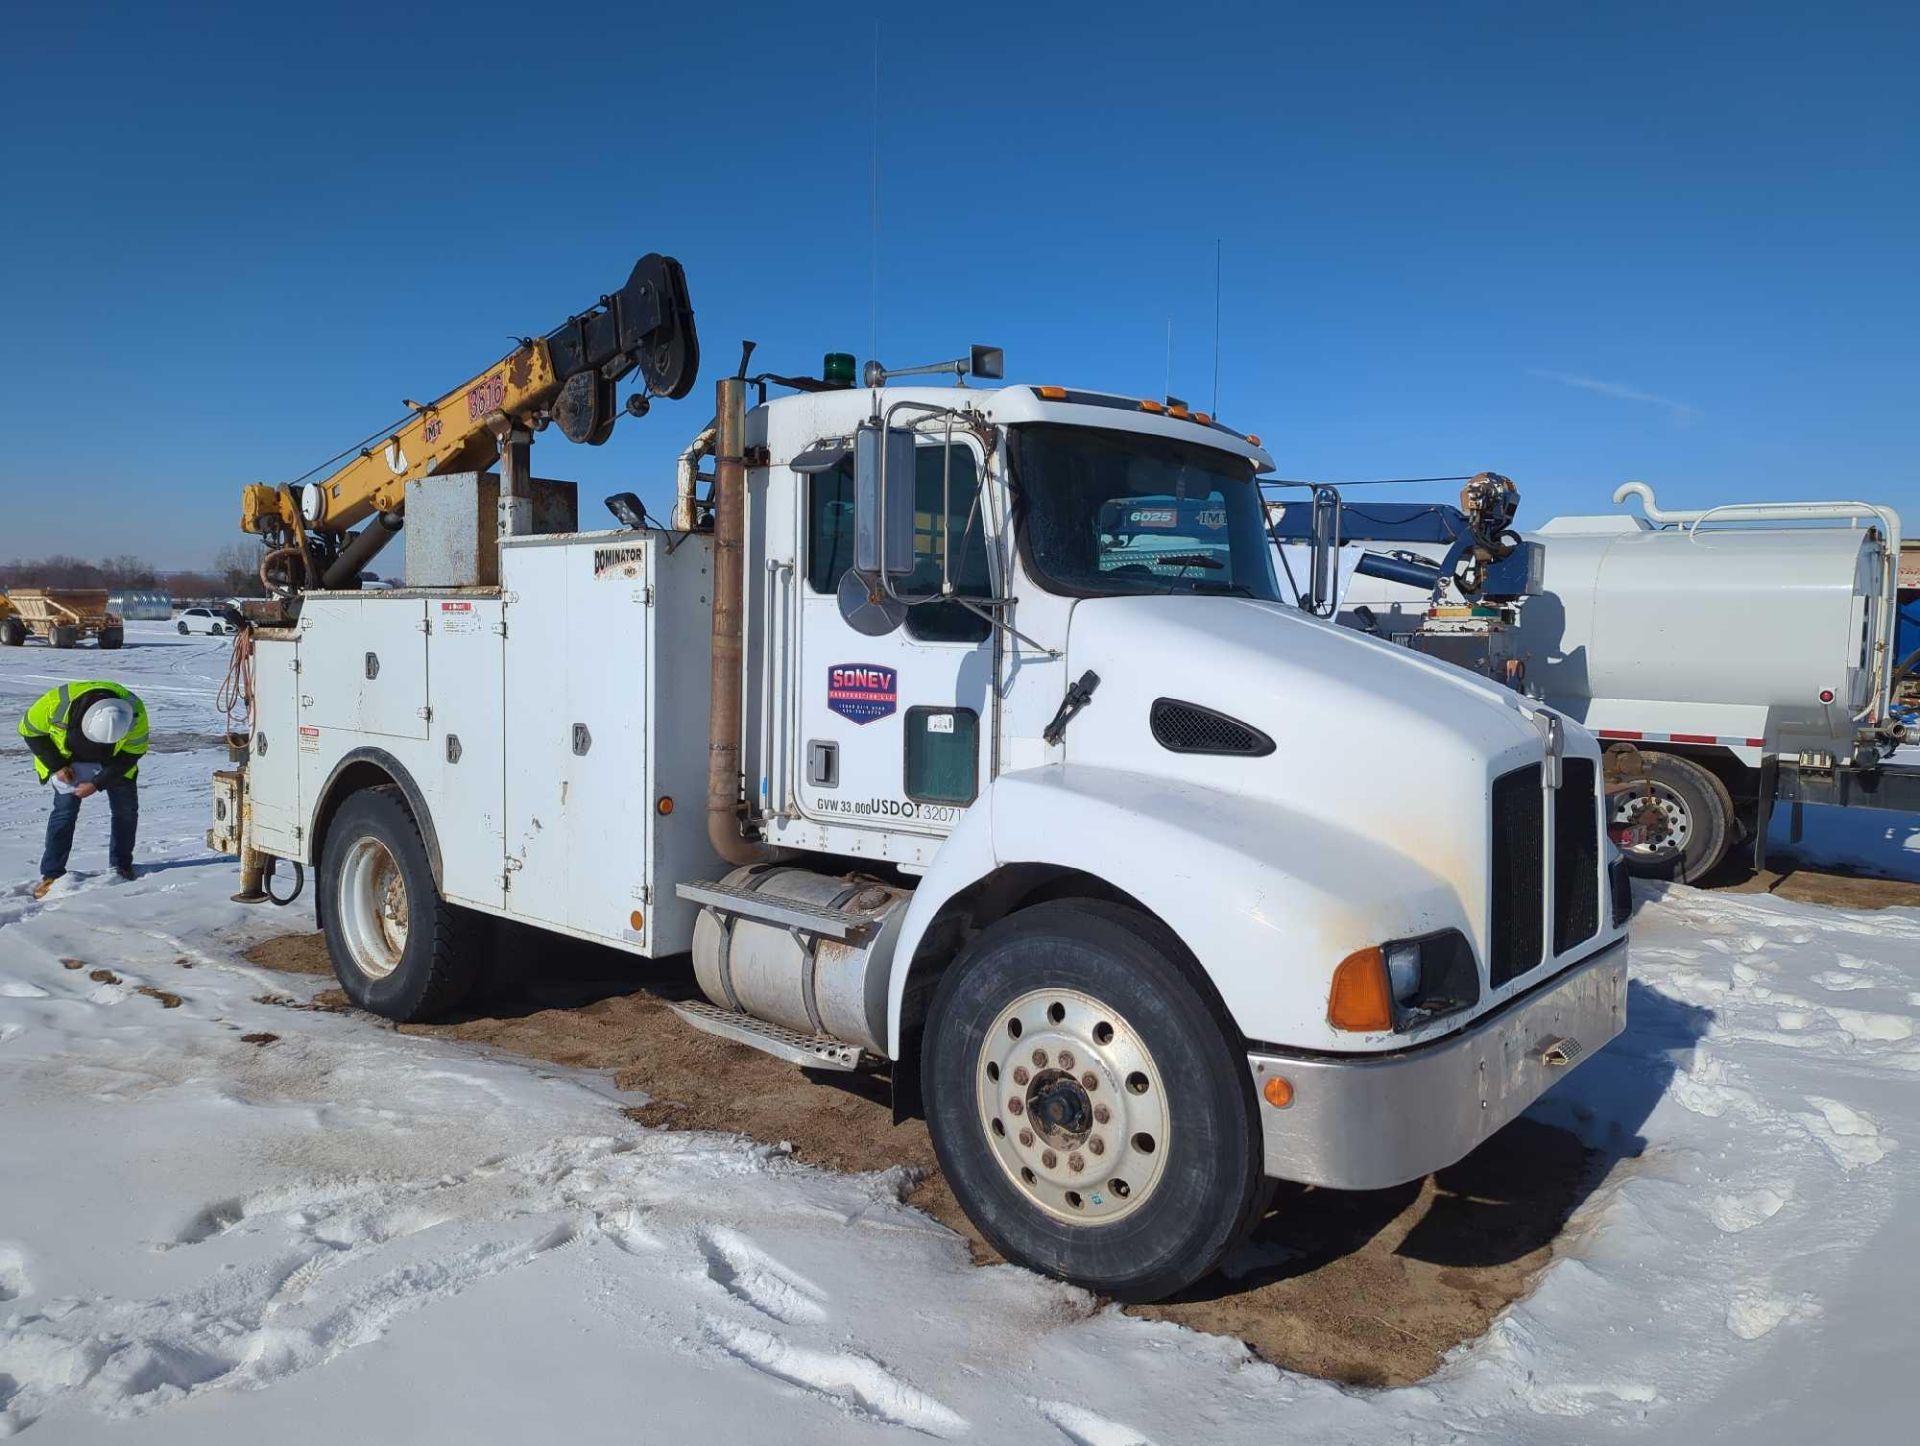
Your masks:
{"label": "dark windshield of the white SONEV truck reflecting another vehicle", "polygon": [[1050,591],[1279,601],[1254,469],[1219,447],[1029,422],[1008,438],[1020,542]]}

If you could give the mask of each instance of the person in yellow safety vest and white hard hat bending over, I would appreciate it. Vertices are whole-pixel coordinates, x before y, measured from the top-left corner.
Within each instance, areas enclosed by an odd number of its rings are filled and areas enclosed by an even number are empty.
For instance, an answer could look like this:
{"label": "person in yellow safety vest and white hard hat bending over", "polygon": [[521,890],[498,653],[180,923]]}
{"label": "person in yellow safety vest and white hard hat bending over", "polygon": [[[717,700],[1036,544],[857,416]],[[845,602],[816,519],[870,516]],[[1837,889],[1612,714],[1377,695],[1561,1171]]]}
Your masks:
{"label": "person in yellow safety vest and white hard hat bending over", "polygon": [[19,735],[40,782],[54,785],[33,897],[44,899],[67,872],[81,803],[94,793],[108,795],[113,816],[108,862],[119,878],[131,880],[132,839],[140,826],[140,759],[148,743],[146,705],[113,682],[61,684],[27,709]]}

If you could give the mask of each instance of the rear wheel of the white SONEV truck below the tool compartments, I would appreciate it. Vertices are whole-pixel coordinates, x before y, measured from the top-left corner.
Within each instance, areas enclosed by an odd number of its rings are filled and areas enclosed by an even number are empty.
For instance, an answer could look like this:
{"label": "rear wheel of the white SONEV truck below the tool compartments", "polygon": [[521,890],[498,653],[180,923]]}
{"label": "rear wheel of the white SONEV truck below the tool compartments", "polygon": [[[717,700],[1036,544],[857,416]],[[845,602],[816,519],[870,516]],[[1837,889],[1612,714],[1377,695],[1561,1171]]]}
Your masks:
{"label": "rear wheel of the white SONEV truck below the tool compartments", "polygon": [[455,1008],[482,972],[474,914],[440,897],[434,870],[394,787],[340,805],[321,849],[326,954],[348,999],[388,1020]]}

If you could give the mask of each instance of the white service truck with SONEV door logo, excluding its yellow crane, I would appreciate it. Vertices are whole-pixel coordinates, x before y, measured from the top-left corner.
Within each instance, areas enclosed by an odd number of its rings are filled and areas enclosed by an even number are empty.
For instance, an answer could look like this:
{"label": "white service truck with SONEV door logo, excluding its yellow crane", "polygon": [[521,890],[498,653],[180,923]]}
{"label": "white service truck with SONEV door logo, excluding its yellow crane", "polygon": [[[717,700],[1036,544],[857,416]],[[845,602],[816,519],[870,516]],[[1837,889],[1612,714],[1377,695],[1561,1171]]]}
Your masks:
{"label": "white service truck with SONEV door logo, excluding its yellow crane", "polygon": [[829,361],[718,384],[664,528],[524,530],[509,417],[409,484],[409,586],[252,630],[215,841],[315,870],[355,1002],[451,1008],[490,920],[691,951],[691,1024],[889,1072],[998,1250],[1123,1300],[1622,1029],[1594,739],[1283,605],[1256,438]]}

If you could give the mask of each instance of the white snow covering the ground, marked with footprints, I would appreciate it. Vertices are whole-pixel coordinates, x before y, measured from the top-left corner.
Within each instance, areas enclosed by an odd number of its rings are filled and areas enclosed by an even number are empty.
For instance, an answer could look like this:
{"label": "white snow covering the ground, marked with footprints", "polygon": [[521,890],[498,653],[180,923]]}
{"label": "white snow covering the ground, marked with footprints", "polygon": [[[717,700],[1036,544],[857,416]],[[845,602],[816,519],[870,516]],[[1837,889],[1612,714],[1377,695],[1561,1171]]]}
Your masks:
{"label": "white snow covering the ground, marked with footprints", "polygon": [[[240,958],[311,914],[230,904],[202,845],[223,668],[221,641],[159,624],[119,655],[0,651],[0,1434],[1912,1434],[1916,910],[1644,895],[1626,1037],[1534,1112],[1603,1150],[1605,1183],[1484,1338],[1419,1386],[1346,1390],[975,1269],[891,1177],[641,1129],[591,1077],[259,1002],[321,981]],[[148,872],[111,881],[90,805],[79,872],[36,904],[44,793],[12,724],[96,670],[154,711]]]}

